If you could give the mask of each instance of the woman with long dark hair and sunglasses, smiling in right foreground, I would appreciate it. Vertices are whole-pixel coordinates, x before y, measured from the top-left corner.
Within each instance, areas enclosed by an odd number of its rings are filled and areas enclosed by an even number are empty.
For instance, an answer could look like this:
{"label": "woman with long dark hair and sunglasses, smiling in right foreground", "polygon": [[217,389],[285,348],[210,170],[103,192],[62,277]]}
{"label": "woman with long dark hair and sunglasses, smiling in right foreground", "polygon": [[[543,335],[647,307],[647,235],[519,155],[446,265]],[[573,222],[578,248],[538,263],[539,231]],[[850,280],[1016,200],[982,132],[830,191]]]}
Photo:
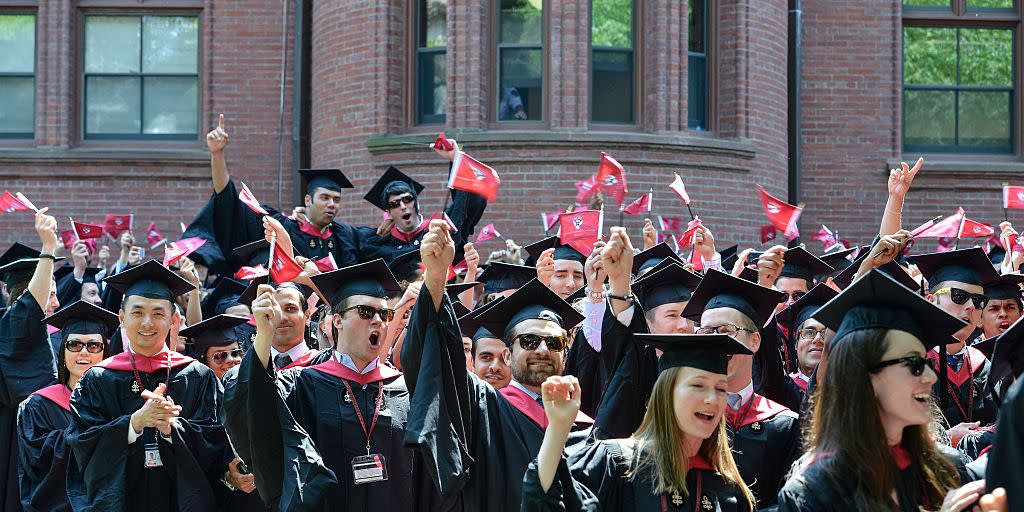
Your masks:
{"label": "woman with long dark hair and sunglasses, smiling in right foreground", "polygon": [[778,510],[967,510],[984,483],[957,489],[965,459],[934,440],[937,378],[927,357],[965,323],[881,270],[815,318],[836,337],[815,391],[808,452],[779,492]]}

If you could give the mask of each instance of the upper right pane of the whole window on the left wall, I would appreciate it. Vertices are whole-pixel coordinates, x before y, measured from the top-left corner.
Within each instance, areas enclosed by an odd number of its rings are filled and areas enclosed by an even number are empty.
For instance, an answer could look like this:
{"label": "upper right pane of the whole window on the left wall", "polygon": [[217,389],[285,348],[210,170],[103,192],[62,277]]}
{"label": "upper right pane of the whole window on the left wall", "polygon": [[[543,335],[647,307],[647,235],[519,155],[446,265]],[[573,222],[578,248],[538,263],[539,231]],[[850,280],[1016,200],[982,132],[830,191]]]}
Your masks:
{"label": "upper right pane of the whole window on the left wall", "polygon": [[145,16],[142,18],[142,72],[199,72],[199,18]]}

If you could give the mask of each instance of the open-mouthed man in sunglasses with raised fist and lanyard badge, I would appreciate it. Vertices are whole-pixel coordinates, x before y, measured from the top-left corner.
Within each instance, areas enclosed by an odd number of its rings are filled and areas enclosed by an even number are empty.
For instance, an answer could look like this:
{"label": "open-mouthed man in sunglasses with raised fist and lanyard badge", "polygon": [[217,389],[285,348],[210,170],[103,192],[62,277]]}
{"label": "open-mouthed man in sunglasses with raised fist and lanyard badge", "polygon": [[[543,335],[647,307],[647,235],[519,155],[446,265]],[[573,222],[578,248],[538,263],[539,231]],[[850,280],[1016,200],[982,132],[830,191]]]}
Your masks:
{"label": "open-mouthed man in sunglasses with raised fist and lanyard badge", "polygon": [[[403,445],[410,392],[381,362],[398,283],[377,259],[313,275],[331,303],[335,349],[324,362],[270,371],[285,313],[260,285],[253,349],[226,389],[222,419],[274,510],[442,510],[424,459]],[[446,500],[446,501],[445,501]]]}

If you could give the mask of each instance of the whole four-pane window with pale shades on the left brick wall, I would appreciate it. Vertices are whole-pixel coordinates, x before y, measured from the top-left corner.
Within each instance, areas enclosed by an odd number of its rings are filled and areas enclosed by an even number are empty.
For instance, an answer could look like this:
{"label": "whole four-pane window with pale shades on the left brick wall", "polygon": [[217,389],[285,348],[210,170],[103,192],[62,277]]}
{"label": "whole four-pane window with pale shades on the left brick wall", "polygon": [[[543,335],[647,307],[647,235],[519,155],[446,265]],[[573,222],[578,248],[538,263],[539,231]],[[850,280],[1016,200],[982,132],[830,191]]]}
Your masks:
{"label": "whole four-pane window with pale shades on the left brick wall", "polygon": [[86,138],[194,139],[199,17],[85,16]]}

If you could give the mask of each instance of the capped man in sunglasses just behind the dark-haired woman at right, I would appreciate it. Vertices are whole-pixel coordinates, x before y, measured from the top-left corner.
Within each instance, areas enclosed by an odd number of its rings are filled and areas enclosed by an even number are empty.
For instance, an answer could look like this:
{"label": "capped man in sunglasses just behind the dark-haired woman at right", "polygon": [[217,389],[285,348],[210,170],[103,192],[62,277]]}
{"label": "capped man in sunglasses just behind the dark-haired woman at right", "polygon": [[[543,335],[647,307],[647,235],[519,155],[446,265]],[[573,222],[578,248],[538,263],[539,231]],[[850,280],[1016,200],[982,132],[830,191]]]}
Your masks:
{"label": "capped man in sunglasses just behind the dark-haired woman at right", "polygon": [[[933,348],[928,353],[937,362],[937,368],[946,368],[946,372],[942,373],[949,378],[941,379],[940,375],[934,391],[946,421],[954,426],[950,437],[958,439],[967,428],[979,422],[988,425],[995,421],[997,408],[986,392],[989,361],[966,342],[978,327],[972,322],[972,316],[988,305],[984,285],[995,282],[999,275],[985,252],[978,247],[923,254],[914,258],[914,263],[928,280],[928,300],[968,324],[953,335],[954,343],[944,345],[944,351]],[[943,391],[945,381],[948,383]]]}

